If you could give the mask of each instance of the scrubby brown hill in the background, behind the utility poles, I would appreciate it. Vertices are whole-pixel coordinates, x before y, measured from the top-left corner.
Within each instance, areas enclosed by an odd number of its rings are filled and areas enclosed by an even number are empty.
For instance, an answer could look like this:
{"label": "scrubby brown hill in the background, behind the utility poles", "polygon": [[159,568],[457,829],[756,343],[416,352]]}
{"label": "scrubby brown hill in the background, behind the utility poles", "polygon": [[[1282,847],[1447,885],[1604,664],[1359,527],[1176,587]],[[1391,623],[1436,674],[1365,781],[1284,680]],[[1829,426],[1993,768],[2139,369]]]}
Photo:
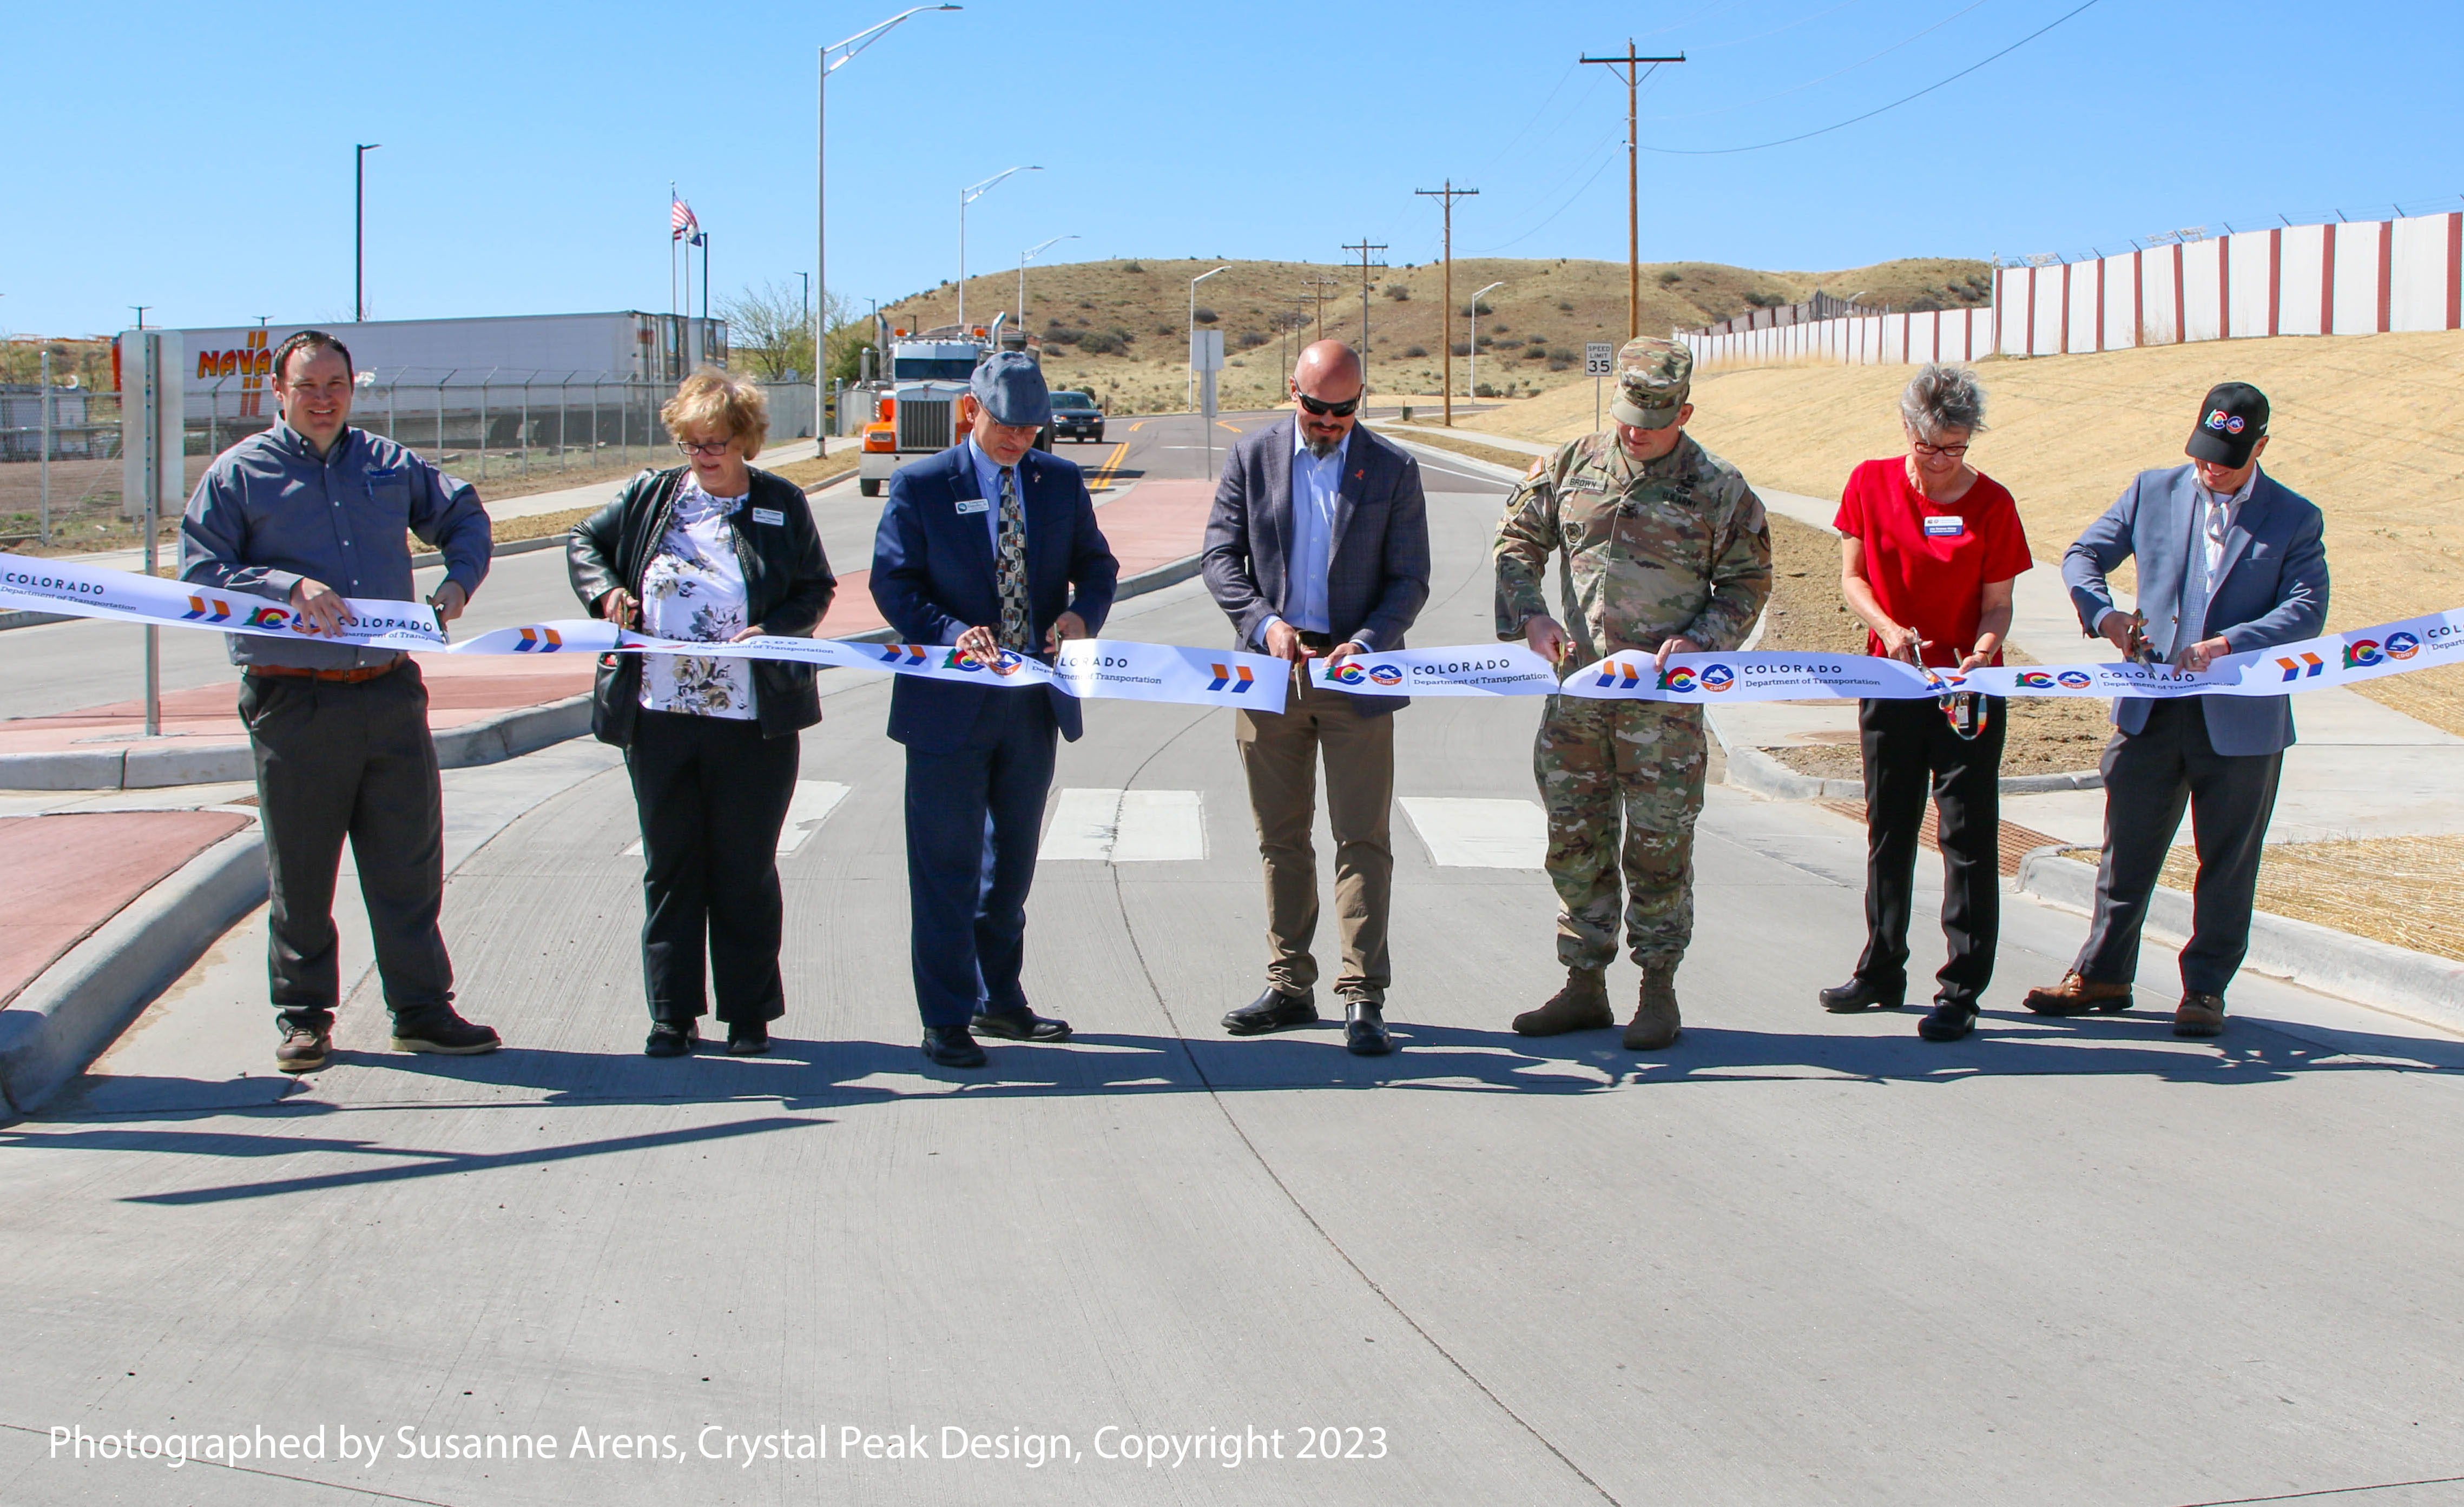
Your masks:
{"label": "scrubby brown hill in the background, behind the utility poles", "polygon": [[[1188,392],[1190,278],[1222,261],[1067,261],[1027,268],[1027,330],[1045,342],[1055,387],[1092,389],[1114,411],[1180,409]],[[1796,303],[1816,288],[1863,293],[1865,303],[1944,308],[1981,303],[1981,261],[1912,259],[1828,273],[1752,271],[1712,261],[1643,263],[1643,332],[1705,325],[1754,303]],[[1313,288],[1318,281],[1331,286]],[[1533,394],[1582,382],[1587,340],[1624,340],[1626,263],[1572,259],[1466,259],[1454,263],[1454,340],[1469,340],[1471,291],[1481,300],[1481,384]],[[1385,394],[1434,394],[1441,384],[1444,268],[1395,266],[1370,273],[1370,384]],[[1313,303],[1311,293],[1323,293]],[[1018,273],[968,278],[966,313],[986,325],[1018,313]],[[929,330],[958,318],[958,288],[944,283],[885,305],[892,328]],[[1230,369],[1222,406],[1284,401],[1289,352],[1331,335],[1360,337],[1360,266],[1234,261],[1198,286],[1200,323],[1225,332]],[[1207,318],[1212,315],[1212,318]],[[1454,362],[1464,392],[1464,357]]]}

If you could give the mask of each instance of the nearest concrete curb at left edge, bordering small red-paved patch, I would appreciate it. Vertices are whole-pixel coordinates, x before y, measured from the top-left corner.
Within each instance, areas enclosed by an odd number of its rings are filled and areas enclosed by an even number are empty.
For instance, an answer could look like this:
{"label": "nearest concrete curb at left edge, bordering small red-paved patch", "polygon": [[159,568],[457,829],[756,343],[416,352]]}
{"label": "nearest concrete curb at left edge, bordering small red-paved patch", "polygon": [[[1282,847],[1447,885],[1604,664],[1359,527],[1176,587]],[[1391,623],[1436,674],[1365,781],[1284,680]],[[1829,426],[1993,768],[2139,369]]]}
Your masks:
{"label": "nearest concrete curb at left edge, bordering small red-paved patch", "polygon": [[266,899],[256,825],[232,832],[133,899],[0,1010],[0,1113],[22,1115],[71,1081]]}

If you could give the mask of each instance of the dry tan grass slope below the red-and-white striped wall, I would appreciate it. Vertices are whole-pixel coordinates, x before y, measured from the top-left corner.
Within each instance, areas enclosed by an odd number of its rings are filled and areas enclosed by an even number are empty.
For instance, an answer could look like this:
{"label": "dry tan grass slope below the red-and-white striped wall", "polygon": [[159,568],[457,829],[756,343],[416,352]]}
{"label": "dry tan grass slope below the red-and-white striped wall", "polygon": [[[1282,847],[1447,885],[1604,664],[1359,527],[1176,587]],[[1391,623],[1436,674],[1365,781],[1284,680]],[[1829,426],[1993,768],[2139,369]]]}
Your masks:
{"label": "dry tan grass slope below the red-and-white striped wall", "polygon": [[[1693,428],[1747,478],[1838,497],[1858,460],[1902,448],[1910,367],[1710,372]],[[1976,463],[2018,497],[2035,557],[2062,549],[2134,473],[2181,460],[2208,387],[2255,382],[2274,404],[2267,470],[2326,510],[2328,625],[2361,628],[2464,606],[2464,332],[2215,340],[2104,355],[1988,360]],[[1466,421],[1456,421],[1466,426]],[[1552,392],[1469,419],[1525,438],[1592,426],[1589,392]],[[2124,571],[2129,584],[2129,571]],[[2464,667],[2400,675],[2363,694],[2464,734]]]}

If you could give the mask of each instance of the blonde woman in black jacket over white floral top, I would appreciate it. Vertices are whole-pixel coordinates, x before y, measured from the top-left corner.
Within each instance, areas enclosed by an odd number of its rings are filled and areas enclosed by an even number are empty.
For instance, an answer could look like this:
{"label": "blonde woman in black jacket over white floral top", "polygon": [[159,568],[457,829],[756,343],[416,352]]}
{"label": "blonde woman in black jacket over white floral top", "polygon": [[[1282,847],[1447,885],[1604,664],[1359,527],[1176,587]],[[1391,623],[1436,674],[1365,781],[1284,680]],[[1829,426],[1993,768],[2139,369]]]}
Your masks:
{"label": "blonde woman in black jacket over white floral top", "polygon": [[[643,470],[574,524],[567,569],[591,616],[702,643],[808,635],[838,581],[803,488],[754,470],[761,389],[700,369],[658,411],[685,465]],[[591,731],[623,749],[641,813],[641,970],[650,1056],[700,1039],[705,953],[727,1051],[769,1051],[779,978],[779,827],[796,734],[821,721],[811,665],[601,655]]]}

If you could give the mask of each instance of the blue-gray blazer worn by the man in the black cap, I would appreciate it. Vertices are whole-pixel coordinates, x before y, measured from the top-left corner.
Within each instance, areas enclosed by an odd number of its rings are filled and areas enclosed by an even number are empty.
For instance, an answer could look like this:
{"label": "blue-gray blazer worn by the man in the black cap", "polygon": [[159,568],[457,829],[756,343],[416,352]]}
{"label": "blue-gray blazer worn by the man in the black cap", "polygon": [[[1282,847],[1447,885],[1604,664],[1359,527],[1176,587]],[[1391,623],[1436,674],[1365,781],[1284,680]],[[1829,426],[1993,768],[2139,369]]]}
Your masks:
{"label": "blue-gray blazer worn by the man in the black cap", "polygon": [[[2218,579],[2208,589],[2208,616],[2183,633],[2181,601],[2205,510],[2198,492],[2198,470],[2190,465],[2141,470],[2122,500],[2087,524],[2062,557],[2062,581],[2087,633],[2094,635],[2104,613],[2114,611],[2104,574],[2131,557],[2139,559],[2139,611],[2156,648],[2223,635],[2232,653],[2245,653],[2326,633],[2326,520],[2309,497],[2264,470],[2225,532]],[[2200,702],[2208,744],[2218,754],[2279,754],[2294,741],[2292,697]],[[2114,697],[2114,726],[2126,734],[2146,731],[2149,707],[2154,702],[2146,697]]]}

